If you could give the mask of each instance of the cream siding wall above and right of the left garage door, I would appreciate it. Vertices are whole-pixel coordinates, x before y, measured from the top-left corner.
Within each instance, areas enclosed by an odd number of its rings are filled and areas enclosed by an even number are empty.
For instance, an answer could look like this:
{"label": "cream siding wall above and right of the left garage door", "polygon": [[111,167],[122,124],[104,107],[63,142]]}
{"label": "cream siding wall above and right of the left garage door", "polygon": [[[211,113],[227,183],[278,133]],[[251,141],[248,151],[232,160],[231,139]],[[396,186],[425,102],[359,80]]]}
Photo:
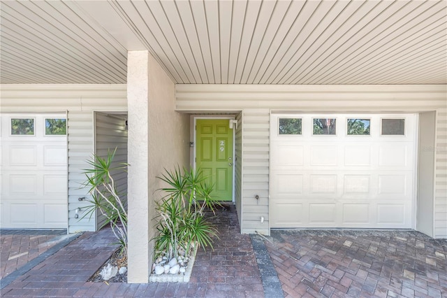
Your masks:
{"label": "cream siding wall above and right of the left garage door", "polygon": [[95,220],[74,218],[85,206],[78,198],[87,197],[82,169],[94,152],[93,111],[126,111],[126,85],[0,85],[0,91],[2,112],[67,112],[68,232],[94,231]]}

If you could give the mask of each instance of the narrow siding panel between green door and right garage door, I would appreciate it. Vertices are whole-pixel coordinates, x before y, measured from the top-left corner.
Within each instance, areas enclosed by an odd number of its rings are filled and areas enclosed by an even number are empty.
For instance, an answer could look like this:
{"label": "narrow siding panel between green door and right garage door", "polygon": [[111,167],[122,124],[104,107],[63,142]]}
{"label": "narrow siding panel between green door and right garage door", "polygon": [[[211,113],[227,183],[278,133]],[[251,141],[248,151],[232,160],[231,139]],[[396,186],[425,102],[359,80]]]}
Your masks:
{"label": "narrow siding panel between green door and right garage door", "polygon": [[[268,202],[269,121],[268,109],[244,110],[242,124],[244,134],[242,143],[243,233],[270,234],[268,204],[265,204]],[[259,199],[256,199],[256,195]],[[263,223],[261,223],[261,216],[265,219]]]}

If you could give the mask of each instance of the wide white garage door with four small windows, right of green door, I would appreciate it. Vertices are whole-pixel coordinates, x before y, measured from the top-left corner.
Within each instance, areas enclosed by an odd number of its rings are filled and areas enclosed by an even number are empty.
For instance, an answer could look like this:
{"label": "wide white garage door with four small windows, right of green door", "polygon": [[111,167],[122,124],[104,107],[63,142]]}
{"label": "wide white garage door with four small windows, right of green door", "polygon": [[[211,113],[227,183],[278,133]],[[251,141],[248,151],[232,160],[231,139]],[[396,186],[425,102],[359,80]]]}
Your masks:
{"label": "wide white garage door with four small windows, right of green door", "polygon": [[411,228],[415,114],[272,114],[270,226]]}

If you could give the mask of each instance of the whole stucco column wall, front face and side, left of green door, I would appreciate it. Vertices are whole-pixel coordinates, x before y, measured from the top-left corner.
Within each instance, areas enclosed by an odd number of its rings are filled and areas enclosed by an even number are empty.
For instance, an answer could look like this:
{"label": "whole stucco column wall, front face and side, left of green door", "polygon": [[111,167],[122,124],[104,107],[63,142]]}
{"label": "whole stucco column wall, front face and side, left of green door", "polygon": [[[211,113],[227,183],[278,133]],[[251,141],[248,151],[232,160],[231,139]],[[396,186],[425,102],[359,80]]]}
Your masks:
{"label": "whole stucco column wall, front face and side, left of green door", "polygon": [[164,169],[189,164],[189,116],[175,112],[175,84],[147,51],[128,55],[129,283],[147,283],[155,201]]}

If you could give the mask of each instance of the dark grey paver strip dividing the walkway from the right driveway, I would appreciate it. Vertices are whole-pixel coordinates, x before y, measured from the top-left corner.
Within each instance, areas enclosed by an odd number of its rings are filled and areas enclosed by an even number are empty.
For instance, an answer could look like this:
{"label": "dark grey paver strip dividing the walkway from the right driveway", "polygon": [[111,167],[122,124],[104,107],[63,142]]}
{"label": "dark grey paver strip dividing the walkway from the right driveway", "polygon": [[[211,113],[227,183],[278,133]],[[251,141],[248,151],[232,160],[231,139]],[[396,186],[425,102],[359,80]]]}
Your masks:
{"label": "dark grey paver strip dividing the walkway from the right driveway", "polygon": [[261,236],[250,234],[256,262],[261,271],[265,298],[284,298],[281,282]]}

